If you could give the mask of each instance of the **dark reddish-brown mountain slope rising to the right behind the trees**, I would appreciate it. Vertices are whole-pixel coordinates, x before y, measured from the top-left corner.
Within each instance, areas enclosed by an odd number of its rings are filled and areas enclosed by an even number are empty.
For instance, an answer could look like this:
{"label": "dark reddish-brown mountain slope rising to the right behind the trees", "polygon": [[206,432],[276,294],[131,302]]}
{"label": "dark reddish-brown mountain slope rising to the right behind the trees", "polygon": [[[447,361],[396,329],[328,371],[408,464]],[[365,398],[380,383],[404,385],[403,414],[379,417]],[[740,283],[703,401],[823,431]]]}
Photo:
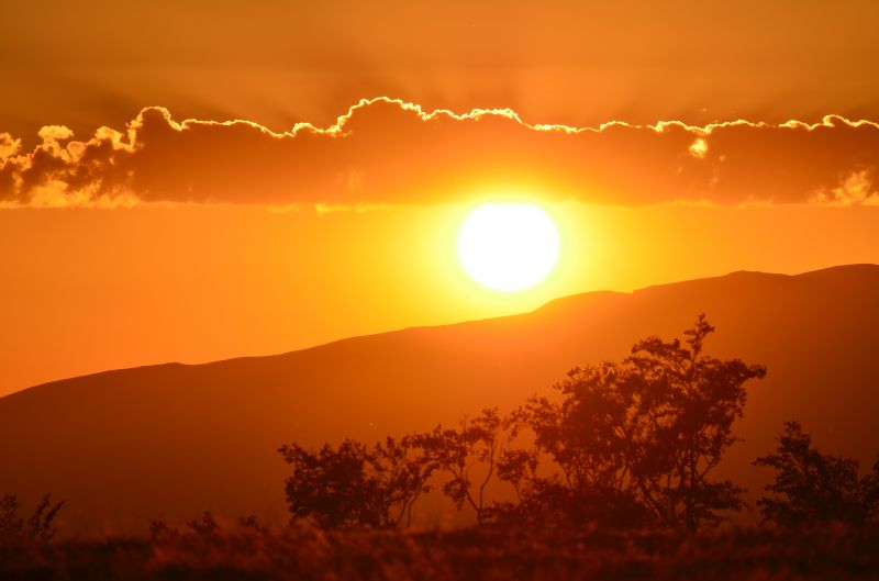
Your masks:
{"label": "dark reddish-brown mountain slope rising to the right behind the trees", "polygon": [[141,530],[202,510],[286,518],[281,444],[375,440],[486,406],[510,410],[580,364],[680,337],[699,313],[706,351],[763,364],[721,476],[759,493],[750,466],[795,418],[827,451],[879,451],[879,266],[798,276],[733,272],[534,312],[355,337],[267,357],[94,373],[0,398],[0,492],[65,499],[67,528]]}

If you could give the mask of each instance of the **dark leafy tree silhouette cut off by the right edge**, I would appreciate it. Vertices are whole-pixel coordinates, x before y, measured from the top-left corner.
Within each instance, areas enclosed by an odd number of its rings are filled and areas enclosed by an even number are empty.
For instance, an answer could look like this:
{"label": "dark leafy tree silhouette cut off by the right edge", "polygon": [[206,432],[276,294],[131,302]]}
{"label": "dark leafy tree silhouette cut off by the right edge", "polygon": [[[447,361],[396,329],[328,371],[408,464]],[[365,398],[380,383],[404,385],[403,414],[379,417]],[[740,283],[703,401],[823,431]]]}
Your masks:
{"label": "dark leafy tree silhouette cut off by the right edge", "polygon": [[777,470],[766,487],[774,496],[757,501],[767,521],[798,527],[839,521],[863,524],[879,506],[879,461],[860,478],[859,463],[845,456],[822,454],[799,422],[786,422],[775,454],[757,458],[755,466]]}

